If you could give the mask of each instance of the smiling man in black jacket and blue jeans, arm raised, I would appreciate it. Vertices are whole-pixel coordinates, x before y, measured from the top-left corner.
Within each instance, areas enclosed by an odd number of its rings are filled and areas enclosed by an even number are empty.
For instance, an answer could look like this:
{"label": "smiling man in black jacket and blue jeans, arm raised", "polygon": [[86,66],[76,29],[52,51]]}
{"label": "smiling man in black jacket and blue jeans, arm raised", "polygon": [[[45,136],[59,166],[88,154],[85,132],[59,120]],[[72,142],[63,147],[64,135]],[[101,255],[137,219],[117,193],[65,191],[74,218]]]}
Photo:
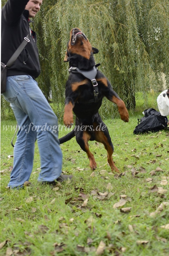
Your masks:
{"label": "smiling man in black jacket and blue jeans, arm raised", "polygon": [[[7,63],[29,33],[29,18],[39,12],[43,0],[8,0],[1,14],[1,61]],[[33,168],[34,144],[38,140],[41,172],[38,181],[55,184],[72,178],[62,175],[57,117],[34,80],[40,74],[37,36],[31,31],[17,60],[7,71],[5,99],[14,111],[19,131],[14,147],[14,167],[8,186],[21,188]]]}

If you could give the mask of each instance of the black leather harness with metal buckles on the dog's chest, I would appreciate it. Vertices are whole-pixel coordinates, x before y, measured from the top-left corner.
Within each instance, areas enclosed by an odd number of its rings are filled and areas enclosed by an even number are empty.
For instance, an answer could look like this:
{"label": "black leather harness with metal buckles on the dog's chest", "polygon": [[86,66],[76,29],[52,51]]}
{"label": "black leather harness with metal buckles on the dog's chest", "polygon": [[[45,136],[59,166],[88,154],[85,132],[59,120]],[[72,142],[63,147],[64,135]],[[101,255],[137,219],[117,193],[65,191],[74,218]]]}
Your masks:
{"label": "black leather harness with metal buckles on the dog's chest", "polygon": [[[98,66],[98,64],[96,66]],[[90,79],[92,84],[93,84],[94,99],[88,100],[88,101],[85,101],[85,102],[82,102],[82,103],[98,102],[99,99],[100,99],[100,98],[98,98],[98,94],[99,94],[98,84],[97,84],[97,81],[95,79],[96,74],[97,74],[97,67],[96,66],[92,67],[90,70],[80,70],[78,67],[70,67],[69,68],[69,72],[81,74],[84,77]]]}

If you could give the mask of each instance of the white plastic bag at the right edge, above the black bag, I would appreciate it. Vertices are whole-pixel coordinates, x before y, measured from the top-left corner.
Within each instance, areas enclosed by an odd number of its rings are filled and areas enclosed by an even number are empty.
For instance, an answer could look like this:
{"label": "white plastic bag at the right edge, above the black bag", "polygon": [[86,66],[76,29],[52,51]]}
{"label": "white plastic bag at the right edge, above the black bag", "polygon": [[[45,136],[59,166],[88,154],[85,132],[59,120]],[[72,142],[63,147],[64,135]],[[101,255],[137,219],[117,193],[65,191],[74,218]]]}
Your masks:
{"label": "white plastic bag at the right edge, above the black bag", "polygon": [[165,97],[163,94],[166,94],[167,90],[163,91],[158,97],[157,97],[157,104],[160,111],[160,114],[162,116],[168,116],[169,115],[169,98],[167,95]]}

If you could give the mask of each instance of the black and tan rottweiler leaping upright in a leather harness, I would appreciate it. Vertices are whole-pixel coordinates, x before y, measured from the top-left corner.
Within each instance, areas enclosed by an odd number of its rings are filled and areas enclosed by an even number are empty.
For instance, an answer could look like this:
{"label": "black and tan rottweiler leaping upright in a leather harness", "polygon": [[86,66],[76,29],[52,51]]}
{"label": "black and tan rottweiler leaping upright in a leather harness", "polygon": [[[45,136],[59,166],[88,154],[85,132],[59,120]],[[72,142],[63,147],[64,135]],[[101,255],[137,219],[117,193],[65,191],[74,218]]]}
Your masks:
{"label": "black and tan rottweiler leaping upright in a leather harness", "polygon": [[69,62],[70,74],[65,88],[63,121],[67,127],[71,127],[73,112],[76,115],[76,121],[74,129],[59,141],[62,144],[76,136],[77,143],[88,155],[92,170],[95,170],[97,165],[89,150],[88,141],[95,140],[103,143],[112,171],[119,173],[112,158],[114,147],[111,137],[98,113],[103,97],[117,104],[120,117],[124,122],[128,122],[129,115],[124,102],[113,91],[110,81],[98,70],[93,56],[96,53],[98,49],[91,46],[79,28],[71,29],[64,59],[65,62]]}

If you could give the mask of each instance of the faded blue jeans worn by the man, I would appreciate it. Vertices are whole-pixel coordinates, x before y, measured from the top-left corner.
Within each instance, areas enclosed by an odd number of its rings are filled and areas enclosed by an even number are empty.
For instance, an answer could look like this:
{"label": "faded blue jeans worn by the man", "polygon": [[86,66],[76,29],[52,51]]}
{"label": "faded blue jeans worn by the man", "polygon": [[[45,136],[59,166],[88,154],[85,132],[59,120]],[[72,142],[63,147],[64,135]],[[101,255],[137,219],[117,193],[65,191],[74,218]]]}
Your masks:
{"label": "faded blue jeans worn by the man", "polygon": [[58,121],[38,83],[28,75],[8,76],[3,96],[10,102],[19,125],[8,186],[22,187],[29,180],[36,139],[41,159],[38,181],[54,181],[62,173]]}

